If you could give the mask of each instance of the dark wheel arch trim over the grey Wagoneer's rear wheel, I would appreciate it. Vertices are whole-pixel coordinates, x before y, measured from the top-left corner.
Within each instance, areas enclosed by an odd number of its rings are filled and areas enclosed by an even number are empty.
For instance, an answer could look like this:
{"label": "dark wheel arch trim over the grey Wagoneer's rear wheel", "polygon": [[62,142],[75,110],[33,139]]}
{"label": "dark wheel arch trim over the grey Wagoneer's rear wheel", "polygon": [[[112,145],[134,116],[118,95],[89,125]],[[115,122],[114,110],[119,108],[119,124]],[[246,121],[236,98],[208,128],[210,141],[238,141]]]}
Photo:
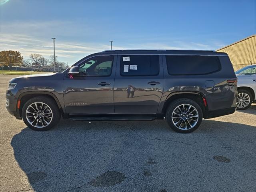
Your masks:
{"label": "dark wheel arch trim over the grey Wagoneer's rear wheel", "polygon": [[203,112],[203,117],[205,116],[205,111],[207,110],[207,106],[204,106],[204,101],[203,98],[204,96],[199,93],[199,92],[174,92],[171,93],[167,96],[165,102],[164,102],[164,106],[162,108],[162,113],[166,113],[166,109],[168,108],[168,106],[170,106],[170,104],[176,100],[176,99],[180,99],[180,98],[188,98],[191,99],[195,102],[197,102],[199,104],[199,106],[202,108],[202,112]]}

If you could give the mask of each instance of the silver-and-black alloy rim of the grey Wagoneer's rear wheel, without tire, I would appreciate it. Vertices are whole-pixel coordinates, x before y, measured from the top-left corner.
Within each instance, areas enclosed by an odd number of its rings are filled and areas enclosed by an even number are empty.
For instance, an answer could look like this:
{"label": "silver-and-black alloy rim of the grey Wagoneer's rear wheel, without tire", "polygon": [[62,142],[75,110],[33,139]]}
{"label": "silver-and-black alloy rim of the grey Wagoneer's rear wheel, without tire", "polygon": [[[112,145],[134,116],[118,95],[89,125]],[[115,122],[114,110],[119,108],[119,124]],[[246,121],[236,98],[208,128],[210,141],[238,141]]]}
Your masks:
{"label": "silver-and-black alloy rim of the grey Wagoneer's rear wheel, without tire", "polygon": [[190,104],[179,105],[172,112],[172,122],[180,130],[189,130],[198,122],[198,111]]}

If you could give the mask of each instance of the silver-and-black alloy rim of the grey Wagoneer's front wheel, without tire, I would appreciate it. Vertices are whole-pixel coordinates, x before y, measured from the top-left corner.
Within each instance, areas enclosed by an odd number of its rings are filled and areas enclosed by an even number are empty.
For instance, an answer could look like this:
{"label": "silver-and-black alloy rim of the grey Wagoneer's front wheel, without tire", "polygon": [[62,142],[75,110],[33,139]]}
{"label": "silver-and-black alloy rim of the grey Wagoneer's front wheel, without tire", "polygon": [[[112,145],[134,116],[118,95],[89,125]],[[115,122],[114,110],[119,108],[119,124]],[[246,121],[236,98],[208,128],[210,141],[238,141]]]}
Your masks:
{"label": "silver-and-black alloy rim of the grey Wagoneer's front wheel, without tire", "polygon": [[28,123],[36,128],[44,128],[52,122],[52,109],[43,102],[34,102],[26,109]]}

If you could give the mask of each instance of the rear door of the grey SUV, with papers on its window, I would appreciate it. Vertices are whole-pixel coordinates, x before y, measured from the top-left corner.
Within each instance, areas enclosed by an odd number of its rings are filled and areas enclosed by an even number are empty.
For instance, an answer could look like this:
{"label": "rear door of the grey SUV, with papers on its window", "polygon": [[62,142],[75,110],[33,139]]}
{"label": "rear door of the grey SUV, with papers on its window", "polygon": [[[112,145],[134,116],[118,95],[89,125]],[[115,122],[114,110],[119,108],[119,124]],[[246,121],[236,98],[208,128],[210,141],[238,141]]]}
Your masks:
{"label": "rear door of the grey SUV, with papers on its window", "polygon": [[162,54],[118,54],[114,85],[115,113],[157,113],[164,90]]}

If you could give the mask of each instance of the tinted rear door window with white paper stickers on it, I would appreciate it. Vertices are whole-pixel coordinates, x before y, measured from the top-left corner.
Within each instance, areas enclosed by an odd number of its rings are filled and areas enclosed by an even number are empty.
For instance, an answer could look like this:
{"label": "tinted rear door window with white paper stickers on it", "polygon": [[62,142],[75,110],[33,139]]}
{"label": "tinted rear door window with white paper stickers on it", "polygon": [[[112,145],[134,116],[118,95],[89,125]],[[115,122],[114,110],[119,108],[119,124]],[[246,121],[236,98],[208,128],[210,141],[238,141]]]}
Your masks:
{"label": "tinted rear door window with white paper stickers on it", "polygon": [[120,74],[122,76],[154,76],[159,73],[158,55],[122,55]]}

